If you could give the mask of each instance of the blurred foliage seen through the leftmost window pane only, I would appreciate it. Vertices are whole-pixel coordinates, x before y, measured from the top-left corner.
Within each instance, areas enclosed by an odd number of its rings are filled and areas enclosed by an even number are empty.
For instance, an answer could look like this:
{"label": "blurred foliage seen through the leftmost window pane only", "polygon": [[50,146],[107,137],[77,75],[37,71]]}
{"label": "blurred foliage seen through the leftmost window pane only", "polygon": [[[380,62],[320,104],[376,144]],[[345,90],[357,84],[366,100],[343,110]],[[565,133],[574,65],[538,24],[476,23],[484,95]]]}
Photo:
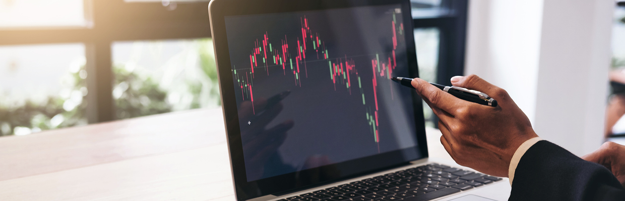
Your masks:
{"label": "blurred foliage seen through the leftmost window pane only", "polygon": [[69,86],[59,96],[50,96],[43,102],[25,100],[21,104],[0,105],[0,136],[87,124],[86,76],[83,65],[66,77]]}

